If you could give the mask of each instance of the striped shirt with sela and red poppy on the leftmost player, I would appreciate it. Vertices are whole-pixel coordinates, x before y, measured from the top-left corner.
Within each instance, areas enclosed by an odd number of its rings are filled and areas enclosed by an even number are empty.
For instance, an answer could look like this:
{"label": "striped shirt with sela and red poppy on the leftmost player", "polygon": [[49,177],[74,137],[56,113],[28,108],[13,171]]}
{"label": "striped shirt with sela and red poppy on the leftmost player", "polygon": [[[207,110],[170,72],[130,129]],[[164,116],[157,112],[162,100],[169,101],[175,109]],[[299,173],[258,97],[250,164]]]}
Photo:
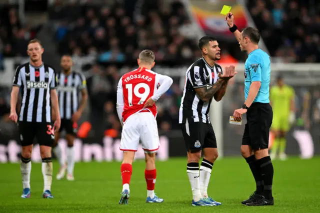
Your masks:
{"label": "striped shirt with sela and red poppy on the leftmost player", "polygon": [[56,78],[52,67],[29,62],[19,65],[14,74],[13,86],[22,91],[19,121],[51,122],[50,89],[55,89]]}

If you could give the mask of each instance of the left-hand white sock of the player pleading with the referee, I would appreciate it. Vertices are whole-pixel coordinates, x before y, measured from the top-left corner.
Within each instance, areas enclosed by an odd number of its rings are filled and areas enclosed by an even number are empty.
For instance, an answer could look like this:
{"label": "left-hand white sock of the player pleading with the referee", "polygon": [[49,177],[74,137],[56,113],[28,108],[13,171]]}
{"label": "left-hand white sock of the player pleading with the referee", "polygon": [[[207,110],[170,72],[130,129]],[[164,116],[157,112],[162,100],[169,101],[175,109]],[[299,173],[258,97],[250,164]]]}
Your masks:
{"label": "left-hand white sock of the player pleading with the referee", "polygon": [[186,173],[188,174],[188,178],[192,189],[192,198],[195,202],[199,201],[201,198],[199,163],[189,162],[186,166]]}

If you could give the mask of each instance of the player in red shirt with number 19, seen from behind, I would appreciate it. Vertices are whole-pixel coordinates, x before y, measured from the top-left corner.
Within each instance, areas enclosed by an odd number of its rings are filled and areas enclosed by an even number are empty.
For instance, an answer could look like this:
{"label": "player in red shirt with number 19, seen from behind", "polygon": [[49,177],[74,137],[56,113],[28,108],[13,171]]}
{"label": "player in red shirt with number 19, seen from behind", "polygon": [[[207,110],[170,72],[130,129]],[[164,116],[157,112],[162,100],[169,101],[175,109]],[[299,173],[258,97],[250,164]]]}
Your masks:
{"label": "player in red shirt with number 19, seen from behind", "polygon": [[139,140],[145,153],[146,202],[163,202],[162,198],[154,194],[154,158],[159,148],[155,101],[168,90],[173,81],[168,76],[150,70],[155,63],[151,50],[141,51],[137,63],[139,67],[124,74],[117,86],[116,108],[123,125],[120,144],[120,150],[123,151],[122,194],[119,204],[128,204],[132,161]]}

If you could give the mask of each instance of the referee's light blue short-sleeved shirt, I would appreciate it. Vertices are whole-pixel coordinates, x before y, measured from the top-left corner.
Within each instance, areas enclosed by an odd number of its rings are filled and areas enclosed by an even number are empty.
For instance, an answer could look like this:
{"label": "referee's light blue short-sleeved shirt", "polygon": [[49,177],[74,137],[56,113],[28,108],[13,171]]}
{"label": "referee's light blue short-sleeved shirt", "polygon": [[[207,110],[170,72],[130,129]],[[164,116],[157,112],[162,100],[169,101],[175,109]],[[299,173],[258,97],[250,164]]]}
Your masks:
{"label": "referee's light blue short-sleeved shirt", "polygon": [[253,81],[260,81],[261,86],[253,102],[268,103],[270,85],[270,58],[261,50],[255,49],[248,54],[244,64],[244,97],[248,97],[250,85]]}

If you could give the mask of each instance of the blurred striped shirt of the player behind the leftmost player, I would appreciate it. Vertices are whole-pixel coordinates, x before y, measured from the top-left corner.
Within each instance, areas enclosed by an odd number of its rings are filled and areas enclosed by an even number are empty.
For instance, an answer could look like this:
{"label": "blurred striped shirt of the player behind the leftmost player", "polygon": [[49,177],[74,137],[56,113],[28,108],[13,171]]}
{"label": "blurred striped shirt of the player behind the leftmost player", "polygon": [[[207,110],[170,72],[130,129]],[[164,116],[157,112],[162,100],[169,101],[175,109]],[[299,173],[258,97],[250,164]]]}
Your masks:
{"label": "blurred striped shirt of the player behind the leftmost player", "polygon": [[85,77],[76,71],[71,71],[68,75],[60,72],[57,74],[57,83],[60,116],[71,119],[78,109],[79,91],[86,88]]}

